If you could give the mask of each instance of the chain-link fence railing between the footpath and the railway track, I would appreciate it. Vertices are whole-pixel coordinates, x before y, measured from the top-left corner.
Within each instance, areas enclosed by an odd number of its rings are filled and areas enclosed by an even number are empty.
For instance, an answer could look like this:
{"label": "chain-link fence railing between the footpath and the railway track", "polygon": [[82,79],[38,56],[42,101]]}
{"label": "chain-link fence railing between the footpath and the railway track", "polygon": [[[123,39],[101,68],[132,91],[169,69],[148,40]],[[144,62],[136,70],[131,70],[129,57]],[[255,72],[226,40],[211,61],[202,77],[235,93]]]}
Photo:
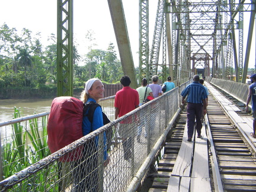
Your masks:
{"label": "chain-link fence railing between the footpath and the railway track", "polygon": [[[126,190],[177,112],[184,88],[172,89],[117,120],[111,119],[114,97],[101,101],[111,123],[5,177],[1,191]],[[28,148],[24,145],[24,151]]]}

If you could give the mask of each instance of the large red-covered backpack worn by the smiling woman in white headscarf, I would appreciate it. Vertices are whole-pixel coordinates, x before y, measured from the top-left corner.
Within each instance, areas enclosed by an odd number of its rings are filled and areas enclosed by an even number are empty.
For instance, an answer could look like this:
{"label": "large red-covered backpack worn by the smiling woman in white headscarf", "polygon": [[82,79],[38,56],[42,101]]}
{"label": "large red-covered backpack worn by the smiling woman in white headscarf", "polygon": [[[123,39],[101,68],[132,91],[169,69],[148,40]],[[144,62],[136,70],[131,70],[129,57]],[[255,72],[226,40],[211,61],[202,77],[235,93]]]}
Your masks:
{"label": "large red-covered backpack worn by the smiling woman in white headscarf", "polygon": [[[80,139],[82,135],[83,103],[74,97],[56,97],[52,101],[47,124],[48,146],[51,153]],[[83,146],[59,159],[62,162],[81,158]]]}

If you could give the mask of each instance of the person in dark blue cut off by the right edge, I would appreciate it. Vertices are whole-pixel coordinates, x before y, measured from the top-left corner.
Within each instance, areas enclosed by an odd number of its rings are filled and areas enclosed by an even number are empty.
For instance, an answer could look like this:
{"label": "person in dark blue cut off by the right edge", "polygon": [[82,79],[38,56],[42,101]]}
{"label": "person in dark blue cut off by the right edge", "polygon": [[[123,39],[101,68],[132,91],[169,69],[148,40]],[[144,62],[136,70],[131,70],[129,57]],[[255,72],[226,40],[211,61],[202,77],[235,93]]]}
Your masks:
{"label": "person in dark blue cut off by the right edge", "polygon": [[252,74],[250,76],[252,84],[249,85],[248,88],[248,96],[247,96],[247,104],[245,110],[247,113],[249,113],[248,104],[252,100],[252,117],[253,117],[253,132],[251,133],[251,136],[256,138],[255,129],[256,129],[256,74]]}

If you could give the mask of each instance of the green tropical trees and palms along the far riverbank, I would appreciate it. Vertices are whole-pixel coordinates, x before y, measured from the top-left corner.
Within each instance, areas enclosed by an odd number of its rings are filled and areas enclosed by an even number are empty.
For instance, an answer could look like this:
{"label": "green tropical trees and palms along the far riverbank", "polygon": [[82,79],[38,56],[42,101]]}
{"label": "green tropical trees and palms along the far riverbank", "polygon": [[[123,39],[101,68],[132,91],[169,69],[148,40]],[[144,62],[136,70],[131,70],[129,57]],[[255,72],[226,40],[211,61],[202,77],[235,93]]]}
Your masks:
{"label": "green tropical trees and palms along the far riverbank", "polygon": [[[107,50],[94,49],[93,34],[88,31],[85,36],[88,41],[85,53],[80,54],[74,42],[74,89],[84,86],[89,78],[97,77],[113,84],[123,75],[113,43],[109,43]],[[47,97],[44,95],[47,92],[56,92],[56,36],[50,34],[47,45],[40,39],[40,33],[34,34],[26,28],[17,31],[7,24],[0,26],[0,98],[8,98],[10,94],[12,97],[20,91],[33,95],[41,90],[41,97]],[[33,89],[37,91],[31,91]]]}

